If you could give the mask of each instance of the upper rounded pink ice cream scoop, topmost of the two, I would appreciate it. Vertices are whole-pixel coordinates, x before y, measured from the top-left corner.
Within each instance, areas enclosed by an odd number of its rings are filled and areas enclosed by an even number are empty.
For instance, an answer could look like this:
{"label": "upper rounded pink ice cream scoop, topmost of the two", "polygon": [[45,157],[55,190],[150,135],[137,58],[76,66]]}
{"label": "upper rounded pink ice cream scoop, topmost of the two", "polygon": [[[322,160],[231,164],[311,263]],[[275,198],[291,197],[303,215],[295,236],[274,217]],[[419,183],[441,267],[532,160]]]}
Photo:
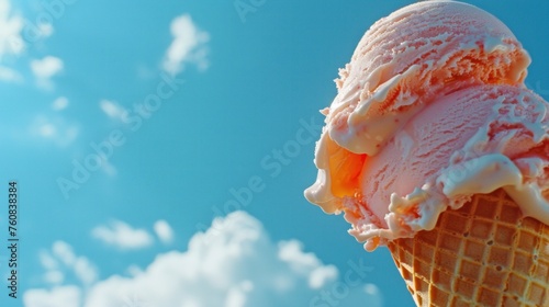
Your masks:
{"label": "upper rounded pink ice cream scoop, topmost of the two", "polygon": [[440,94],[474,83],[519,84],[530,64],[513,33],[473,5],[426,1],[373,24],[336,81],[329,137],[374,155]]}

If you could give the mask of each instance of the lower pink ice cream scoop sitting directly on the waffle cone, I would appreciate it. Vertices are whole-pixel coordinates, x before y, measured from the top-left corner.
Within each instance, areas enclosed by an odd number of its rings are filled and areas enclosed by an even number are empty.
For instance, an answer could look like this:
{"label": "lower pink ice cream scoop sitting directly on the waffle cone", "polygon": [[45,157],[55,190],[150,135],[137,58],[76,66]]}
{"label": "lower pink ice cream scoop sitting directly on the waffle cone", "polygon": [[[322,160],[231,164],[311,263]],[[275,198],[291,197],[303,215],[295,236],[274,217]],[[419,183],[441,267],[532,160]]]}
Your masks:
{"label": "lower pink ice cream scoop sitting directly on the waffle cone", "polygon": [[524,215],[549,225],[548,107],[534,92],[507,84],[438,98],[365,160],[359,200],[343,202],[350,234],[371,250],[377,238],[433,229],[448,207],[500,187]]}

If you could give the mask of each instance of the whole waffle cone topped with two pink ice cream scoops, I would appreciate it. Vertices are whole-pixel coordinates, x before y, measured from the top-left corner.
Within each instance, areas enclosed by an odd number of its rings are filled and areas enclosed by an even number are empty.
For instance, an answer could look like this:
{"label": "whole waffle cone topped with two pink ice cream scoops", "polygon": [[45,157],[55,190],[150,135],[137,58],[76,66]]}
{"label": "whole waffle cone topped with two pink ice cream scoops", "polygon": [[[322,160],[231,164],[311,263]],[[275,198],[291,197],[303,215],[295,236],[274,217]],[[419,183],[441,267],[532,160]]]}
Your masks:
{"label": "whole waffle cone topped with two pink ice cream scoops", "polygon": [[389,246],[418,306],[549,306],[549,103],[529,64],[493,15],[432,0],[339,71],[305,197]]}

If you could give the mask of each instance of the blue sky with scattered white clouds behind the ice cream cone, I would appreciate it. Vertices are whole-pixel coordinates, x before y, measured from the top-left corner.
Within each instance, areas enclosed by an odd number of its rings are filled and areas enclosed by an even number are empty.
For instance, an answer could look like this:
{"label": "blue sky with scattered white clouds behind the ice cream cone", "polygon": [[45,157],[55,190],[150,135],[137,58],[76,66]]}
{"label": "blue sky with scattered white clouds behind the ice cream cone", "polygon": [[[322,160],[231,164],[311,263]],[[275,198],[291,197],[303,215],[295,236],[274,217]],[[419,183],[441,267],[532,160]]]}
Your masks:
{"label": "blue sky with scattered white clouds behind the ice cream cone", "polygon": [[[386,249],[303,190],[337,69],[413,1],[21,2],[0,0],[2,306],[412,306]],[[548,99],[549,4],[467,2]]]}

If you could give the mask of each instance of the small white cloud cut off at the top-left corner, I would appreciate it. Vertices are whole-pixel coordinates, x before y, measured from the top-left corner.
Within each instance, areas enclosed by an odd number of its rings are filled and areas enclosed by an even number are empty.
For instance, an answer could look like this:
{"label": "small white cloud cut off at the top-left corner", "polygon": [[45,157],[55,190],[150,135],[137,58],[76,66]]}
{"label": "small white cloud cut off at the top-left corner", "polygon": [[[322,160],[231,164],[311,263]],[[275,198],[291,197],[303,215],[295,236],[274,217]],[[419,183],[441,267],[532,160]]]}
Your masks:
{"label": "small white cloud cut off at the top-left corner", "polygon": [[24,49],[23,18],[13,14],[9,0],[0,0],[0,58],[3,55],[19,55]]}

